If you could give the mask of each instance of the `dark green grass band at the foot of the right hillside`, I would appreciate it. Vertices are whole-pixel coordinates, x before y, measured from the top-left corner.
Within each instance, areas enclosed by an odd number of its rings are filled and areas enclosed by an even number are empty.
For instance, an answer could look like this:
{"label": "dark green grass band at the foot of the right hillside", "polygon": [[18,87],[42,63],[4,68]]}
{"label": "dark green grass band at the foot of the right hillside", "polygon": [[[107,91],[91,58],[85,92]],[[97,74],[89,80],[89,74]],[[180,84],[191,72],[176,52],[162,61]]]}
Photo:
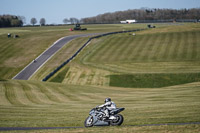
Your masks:
{"label": "dark green grass band at the foot of the right hillside", "polygon": [[200,81],[200,73],[110,75],[110,86],[160,88]]}

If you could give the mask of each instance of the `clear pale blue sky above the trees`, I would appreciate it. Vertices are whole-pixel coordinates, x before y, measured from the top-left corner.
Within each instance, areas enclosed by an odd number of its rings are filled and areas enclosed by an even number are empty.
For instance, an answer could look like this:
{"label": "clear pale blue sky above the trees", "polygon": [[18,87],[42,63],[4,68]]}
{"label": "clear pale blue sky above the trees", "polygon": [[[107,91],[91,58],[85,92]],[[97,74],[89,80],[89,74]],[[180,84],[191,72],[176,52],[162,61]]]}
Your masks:
{"label": "clear pale blue sky above the trees", "polygon": [[78,19],[140,8],[200,8],[200,0],[0,0],[0,15],[45,18],[47,24],[63,24],[64,18]]}

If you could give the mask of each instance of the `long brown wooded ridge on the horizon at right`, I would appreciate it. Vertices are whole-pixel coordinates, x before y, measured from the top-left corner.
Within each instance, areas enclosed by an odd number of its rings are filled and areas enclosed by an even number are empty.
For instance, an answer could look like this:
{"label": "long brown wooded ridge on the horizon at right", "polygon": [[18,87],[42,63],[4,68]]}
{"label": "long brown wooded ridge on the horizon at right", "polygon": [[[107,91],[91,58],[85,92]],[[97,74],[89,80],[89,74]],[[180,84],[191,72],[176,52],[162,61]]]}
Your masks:
{"label": "long brown wooded ridge on the horizon at right", "polygon": [[83,18],[82,23],[119,23],[122,20],[189,20],[200,19],[200,8],[191,9],[132,9],[126,11],[117,11],[113,13],[104,13],[94,17]]}

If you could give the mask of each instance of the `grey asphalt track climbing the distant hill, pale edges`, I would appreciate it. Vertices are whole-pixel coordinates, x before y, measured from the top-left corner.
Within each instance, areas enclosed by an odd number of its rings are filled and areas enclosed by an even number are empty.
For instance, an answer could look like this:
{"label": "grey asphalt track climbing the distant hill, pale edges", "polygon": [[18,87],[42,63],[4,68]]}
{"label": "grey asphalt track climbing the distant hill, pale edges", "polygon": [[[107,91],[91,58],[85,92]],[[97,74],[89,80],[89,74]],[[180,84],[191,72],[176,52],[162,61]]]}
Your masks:
{"label": "grey asphalt track climbing the distant hill, pale edges", "polygon": [[60,50],[65,44],[70,42],[73,39],[79,37],[88,37],[98,35],[99,33],[91,33],[91,34],[80,34],[80,35],[72,35],[66,36],[51,45],[47,50],[45,50],[40,56],[38,56],[35,60],[29,63],[21,72],[19,72],[13,79],[19,80],[28,80],[37,70],[42,67],[58,50]]}

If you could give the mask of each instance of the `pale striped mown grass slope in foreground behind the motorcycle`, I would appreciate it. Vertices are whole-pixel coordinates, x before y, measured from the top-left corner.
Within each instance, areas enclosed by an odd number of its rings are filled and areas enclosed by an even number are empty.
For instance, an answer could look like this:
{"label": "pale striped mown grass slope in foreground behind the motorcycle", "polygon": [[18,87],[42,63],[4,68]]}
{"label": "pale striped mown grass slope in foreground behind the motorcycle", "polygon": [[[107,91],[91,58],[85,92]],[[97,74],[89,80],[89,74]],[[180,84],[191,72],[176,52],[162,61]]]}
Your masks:
{"label": "pale striped mown grass slope in foreground behind the motorcycle", "polygon": [[126,108],[122,112],[125,127],[197,122],[200,121],[199,88],[199,83],[164,88],[115,88],[1,81],[0,126],[83,126],[90,109],[102,104],[105,97],[112,97],[118,107]]}

